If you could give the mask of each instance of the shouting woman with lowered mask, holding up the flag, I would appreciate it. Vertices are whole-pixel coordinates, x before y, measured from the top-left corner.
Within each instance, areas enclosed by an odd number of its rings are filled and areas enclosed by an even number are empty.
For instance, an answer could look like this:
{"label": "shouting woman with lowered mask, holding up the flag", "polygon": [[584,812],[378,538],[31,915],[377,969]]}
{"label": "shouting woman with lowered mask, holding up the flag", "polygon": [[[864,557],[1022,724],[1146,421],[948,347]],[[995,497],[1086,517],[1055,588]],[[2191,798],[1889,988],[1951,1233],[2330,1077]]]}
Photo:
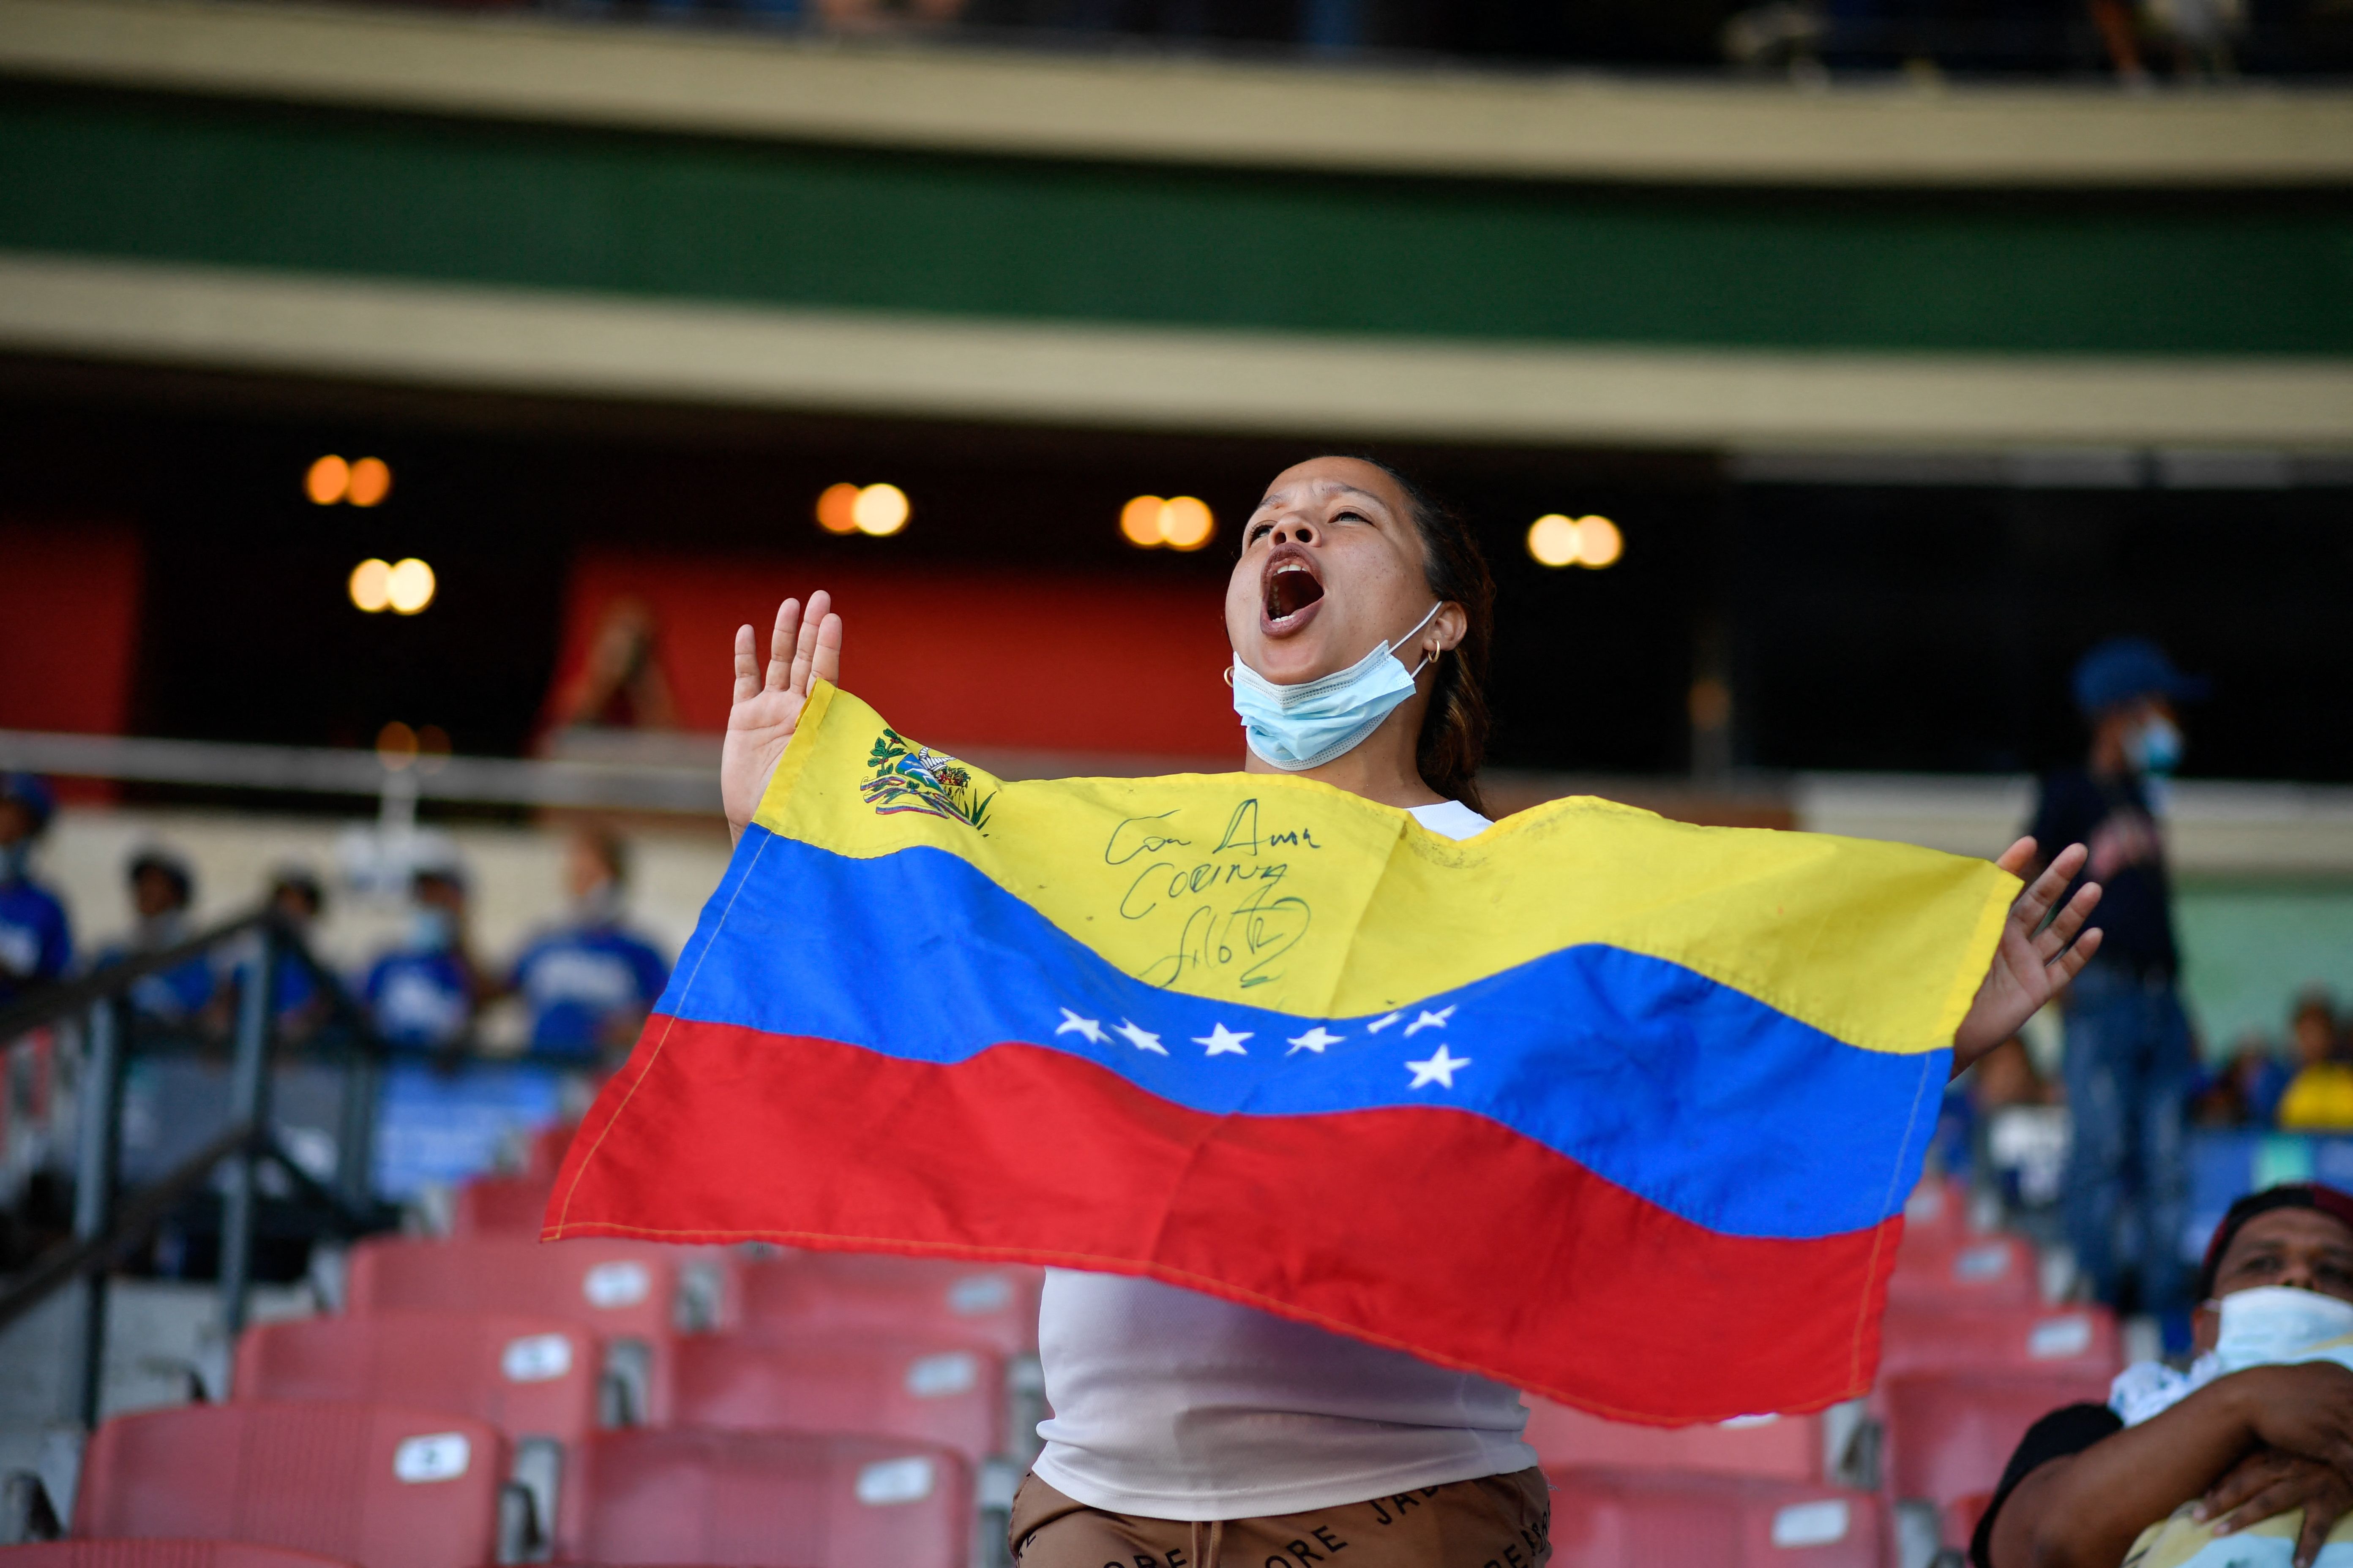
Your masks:
{"label": "shouting woman with lowered mask, holding up the flag", "polygon": [[[1478,766],[1494,585],[1468,524],[1398,473],[1322,456],[1275,475],[1226,585],[1245,769],[1409,811],[1452,839],[1489,827]],[[812,679],[840,682],[826,595],[786,599],[769,658],[736,632],[720,764],[741,835]],[[1209,672],[1202,672],[1209,679]],[[2035,853],[2021,839],[2000,865]],[[1955,1041],[2007,1039],[2097,952],[2099,889],[2057,905],[2068,846],[2012,907]],[[2054,914],[2049,929],[2042,917]],[[1508,1201],[1508,1199],[1499,1199]],[[1515,1389],[1153,1279],[1047,1269],[1038,1324],[1052,1420],[1014,1497],[1021,1568],[1539,1568],[1551,1505]]]}

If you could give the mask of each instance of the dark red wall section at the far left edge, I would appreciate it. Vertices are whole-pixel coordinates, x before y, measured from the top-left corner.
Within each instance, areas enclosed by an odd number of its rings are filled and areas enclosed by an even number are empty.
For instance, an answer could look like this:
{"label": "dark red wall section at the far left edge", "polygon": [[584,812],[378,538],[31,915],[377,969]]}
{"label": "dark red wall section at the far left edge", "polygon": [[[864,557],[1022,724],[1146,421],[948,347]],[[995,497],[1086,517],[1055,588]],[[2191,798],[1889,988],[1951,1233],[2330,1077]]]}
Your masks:
{"label": "dark red wall section at the far left edge", "polygon": [[129,527],[0,524],[0,729],[120,736],[136,637]]}

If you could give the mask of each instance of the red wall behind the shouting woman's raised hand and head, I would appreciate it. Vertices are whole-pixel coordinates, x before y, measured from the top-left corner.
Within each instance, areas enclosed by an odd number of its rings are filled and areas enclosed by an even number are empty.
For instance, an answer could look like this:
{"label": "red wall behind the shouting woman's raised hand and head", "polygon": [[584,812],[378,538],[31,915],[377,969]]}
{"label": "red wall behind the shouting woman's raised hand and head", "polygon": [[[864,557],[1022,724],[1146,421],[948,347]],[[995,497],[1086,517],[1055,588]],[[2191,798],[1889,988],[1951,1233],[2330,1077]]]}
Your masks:
{"label": "red wall behind the shouting woman's raised hand and head", "polygon": [[[776,602],[833,592],[842,686],[946,750],[1021,748],[1233,757],[1240,726],[1214,588],[1026,571],[840,571],[781,557],[586,550],[572,571],[555,691],[569,689],[614,599],[654,618],[680,729],[727,724],[734,630]],[[553,698],[551,698],[553,701]]]}

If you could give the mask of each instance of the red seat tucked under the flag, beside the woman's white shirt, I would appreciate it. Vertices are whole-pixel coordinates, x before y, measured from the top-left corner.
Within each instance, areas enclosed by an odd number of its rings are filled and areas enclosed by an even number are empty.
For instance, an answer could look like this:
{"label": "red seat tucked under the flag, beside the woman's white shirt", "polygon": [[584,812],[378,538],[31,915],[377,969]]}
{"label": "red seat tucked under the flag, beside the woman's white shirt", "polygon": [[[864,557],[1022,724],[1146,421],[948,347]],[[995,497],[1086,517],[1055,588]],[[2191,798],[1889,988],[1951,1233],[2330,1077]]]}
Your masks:
{"label": "red seat tucked under the flag, beside the woman's white shirt", "polygon": [[1042,1286],[1042,1269],[1007,1262],[798,1253],[744,1272],[744,1333],[880,1333],[1035,1354]]}

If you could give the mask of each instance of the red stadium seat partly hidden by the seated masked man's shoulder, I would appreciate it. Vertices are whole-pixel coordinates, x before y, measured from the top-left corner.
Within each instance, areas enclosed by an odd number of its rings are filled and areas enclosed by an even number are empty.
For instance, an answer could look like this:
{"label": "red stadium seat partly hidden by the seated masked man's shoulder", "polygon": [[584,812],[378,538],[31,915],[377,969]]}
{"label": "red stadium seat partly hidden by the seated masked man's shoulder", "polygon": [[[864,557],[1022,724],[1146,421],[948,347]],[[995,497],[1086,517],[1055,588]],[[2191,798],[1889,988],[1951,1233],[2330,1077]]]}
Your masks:
{"label": "red stadium seat partly hidden by the seated masked man's shoulder", "polygon": [[[1887,1493],[1951,1509],[1991,1493],[2002,1465],[2059,1406],[2104,1403],[2108,1378],[2097,1371],[1915,1373],[1880,1385],[1887,1420]],[[1967,1544],[1946,1540],[1948,1547]]]}

